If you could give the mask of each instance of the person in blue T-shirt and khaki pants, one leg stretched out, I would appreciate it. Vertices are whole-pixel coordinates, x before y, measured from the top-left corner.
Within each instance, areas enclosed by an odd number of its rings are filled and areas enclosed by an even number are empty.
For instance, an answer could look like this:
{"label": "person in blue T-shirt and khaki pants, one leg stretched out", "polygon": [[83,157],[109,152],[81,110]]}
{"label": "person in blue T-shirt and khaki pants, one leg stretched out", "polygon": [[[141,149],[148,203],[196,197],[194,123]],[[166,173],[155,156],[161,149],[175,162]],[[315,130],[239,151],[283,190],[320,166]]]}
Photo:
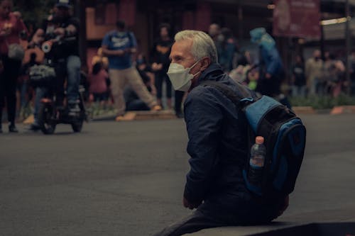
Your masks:
{"label": "person in blue T-shirt and khaki pants, one leg stretched out", "polygon": [[136,53],[137,42],[133,33],[126,30],[124,21],[116,22],[116,30],[112,30],[102,40],[102,52],[109,58],[109,78],[111,94],[117,108],[116,121],[125,120],[126,102],[124,87],[131,86],[139,98],[153,111],[161,110],[155,98],[148,92],[136,67],[132,64],[132,55]]}

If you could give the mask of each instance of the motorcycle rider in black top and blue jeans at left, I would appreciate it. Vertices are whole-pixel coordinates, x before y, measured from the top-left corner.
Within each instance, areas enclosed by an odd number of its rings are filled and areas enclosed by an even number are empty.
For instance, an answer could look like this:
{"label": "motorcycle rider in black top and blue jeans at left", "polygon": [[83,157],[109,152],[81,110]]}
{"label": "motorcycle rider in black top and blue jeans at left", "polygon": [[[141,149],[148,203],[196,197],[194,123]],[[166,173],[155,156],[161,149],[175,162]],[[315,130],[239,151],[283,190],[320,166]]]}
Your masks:
{"label": "motorcycle rider in black top and blue jeans at left", "polygon": [[[48,16],[43,28],[36,30],[31,44],[41,45],[45,40],[57,38],[61,40],[60,44],[51,49],[55,55],[55,89],[56,106],[63,106],[65,98],[67,99],[68,116],[75,117],[80,113],[79,85],[81,80],[80,68],[82,62],[79,56],[79,31],[80,22],[75,16],[72,16],[72,5],[70,0],[57,0],[53,14]],[[67,40],[64,40],[67,39]],[[66,94],[65,94],[66,86]],[[38,124],[38,112],[40,101],[47,93],[45,86],[38,86],[35,89],[35,108],[33,109],[34,122],[30,130],[40,129]]]}

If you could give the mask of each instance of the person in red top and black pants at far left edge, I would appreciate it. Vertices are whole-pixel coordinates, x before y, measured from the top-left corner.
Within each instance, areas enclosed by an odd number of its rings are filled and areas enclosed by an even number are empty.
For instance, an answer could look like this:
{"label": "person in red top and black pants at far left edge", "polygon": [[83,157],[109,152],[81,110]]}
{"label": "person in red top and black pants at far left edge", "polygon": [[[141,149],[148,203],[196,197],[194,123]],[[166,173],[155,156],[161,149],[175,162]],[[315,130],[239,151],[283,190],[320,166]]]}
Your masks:
{"label": "person in red top and black pants at far left edge", "polygon": [[18,133],[15,125],[16,84],[24,56],[20,34],[28,34],[21,15],[11,12],[12,8],[12,0],[0,0],[0,133],[5,98],[9,132]]}

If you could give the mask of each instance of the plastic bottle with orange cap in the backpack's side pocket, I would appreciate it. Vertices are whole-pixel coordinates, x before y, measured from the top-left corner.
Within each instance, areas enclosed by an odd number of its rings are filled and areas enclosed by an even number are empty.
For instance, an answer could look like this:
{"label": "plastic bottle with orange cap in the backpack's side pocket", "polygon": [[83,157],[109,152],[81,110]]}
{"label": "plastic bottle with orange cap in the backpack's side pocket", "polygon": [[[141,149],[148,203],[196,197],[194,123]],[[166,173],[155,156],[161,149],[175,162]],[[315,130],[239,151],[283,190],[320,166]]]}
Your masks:
{"label": "plastic bottle with orange cap in the backpack's side pocket", "polygon": [[257,136],[255,144],[251,146],[248,179],[253,186],[261,186],[266,155],[266,147],[263,143],[264,138]]}

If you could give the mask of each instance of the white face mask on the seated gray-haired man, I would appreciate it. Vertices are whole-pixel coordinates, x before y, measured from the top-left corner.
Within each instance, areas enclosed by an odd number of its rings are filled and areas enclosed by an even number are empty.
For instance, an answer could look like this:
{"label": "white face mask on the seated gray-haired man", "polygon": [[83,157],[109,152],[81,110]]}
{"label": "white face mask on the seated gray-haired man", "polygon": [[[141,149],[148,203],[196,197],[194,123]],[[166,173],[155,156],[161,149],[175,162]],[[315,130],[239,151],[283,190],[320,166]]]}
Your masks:
{"label": "white face mask on the seated gray-haired man", "polygon": [[[197,62],[200,62],[200,60],[197,60]],[[182,64],[170,63],[167,74],[175,90],[189,91],[192,84],[191,79],[199,73],[197,72],[196,74],[190,74],[190,70],[195,67],[197,62],[192,64],[190,68],[186,69],[182,66]]]}

